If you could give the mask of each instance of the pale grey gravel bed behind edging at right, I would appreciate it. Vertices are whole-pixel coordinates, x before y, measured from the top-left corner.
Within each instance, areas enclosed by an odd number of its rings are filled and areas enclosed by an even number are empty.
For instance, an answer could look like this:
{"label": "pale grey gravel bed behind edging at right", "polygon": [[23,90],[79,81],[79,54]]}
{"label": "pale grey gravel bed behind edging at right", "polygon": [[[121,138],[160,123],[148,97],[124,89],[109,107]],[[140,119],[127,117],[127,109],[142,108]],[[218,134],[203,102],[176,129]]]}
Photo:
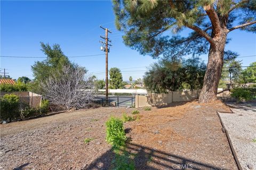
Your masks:
{"label": "pale grey gravel bed behind edging at right", "polygon": [[243,169],[256,169],[256,108],[251,104],[228,105],[234,114],[220,113],[220,117],[238,160]]}

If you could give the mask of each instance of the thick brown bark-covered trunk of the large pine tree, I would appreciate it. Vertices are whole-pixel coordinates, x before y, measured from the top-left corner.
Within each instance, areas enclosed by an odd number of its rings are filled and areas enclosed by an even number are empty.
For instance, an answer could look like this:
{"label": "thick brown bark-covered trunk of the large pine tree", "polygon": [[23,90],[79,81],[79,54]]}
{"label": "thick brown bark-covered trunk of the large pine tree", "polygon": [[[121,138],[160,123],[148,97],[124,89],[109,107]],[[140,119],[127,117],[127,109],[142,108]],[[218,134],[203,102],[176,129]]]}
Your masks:
{"label": "thick brown bark-covered trunk of the large pine tree", "polygon": [[199,103],[208,103],[217,99],[227,33],[221,33],[220,35],[213,38],[216,43],[215,46],[210,46],[204,84],[199,95]]}

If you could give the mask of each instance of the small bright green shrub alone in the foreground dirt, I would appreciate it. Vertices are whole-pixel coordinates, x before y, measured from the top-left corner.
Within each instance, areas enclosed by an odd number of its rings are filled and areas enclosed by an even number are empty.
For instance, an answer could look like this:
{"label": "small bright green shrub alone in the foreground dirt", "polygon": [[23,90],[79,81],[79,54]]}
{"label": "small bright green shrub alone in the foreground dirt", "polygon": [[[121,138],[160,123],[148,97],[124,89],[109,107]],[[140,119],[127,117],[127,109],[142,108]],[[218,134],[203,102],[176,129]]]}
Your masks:
{"label": "small bright green shrub alone in the foreground dirt", "polygon": [[124,132],[123,121],[111,116],[106,122],[107,142],[114,147],[120,148],[125,145],[126,136]]}

